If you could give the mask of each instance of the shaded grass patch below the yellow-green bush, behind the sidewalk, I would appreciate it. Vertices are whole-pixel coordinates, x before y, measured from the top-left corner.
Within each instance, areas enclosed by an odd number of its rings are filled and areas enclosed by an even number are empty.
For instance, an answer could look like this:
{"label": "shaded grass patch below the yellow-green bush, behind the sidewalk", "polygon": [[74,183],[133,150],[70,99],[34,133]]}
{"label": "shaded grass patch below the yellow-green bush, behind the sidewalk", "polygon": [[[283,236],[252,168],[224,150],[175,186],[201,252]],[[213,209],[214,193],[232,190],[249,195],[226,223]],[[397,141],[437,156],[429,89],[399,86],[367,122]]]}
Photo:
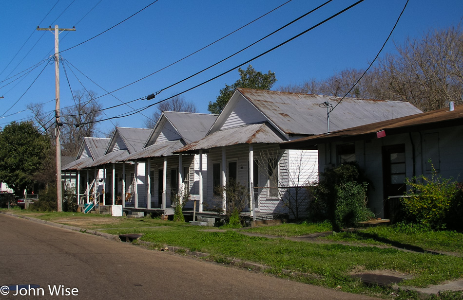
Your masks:
{"label": "shaded grass patch below the yellow-green bush, behind the sidewalk", "polygon": [[455,231],[406,230],[403,227],[381,226],[354,232],[340,232],[319,239],[463,254],[463,233]]}

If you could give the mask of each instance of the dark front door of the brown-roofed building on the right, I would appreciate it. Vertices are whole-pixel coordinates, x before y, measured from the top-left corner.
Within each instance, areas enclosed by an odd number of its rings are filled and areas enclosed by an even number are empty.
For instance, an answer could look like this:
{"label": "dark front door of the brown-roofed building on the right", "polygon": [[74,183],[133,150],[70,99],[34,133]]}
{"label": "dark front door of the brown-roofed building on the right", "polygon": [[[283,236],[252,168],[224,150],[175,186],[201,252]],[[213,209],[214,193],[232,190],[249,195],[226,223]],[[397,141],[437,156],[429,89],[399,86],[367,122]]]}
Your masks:
{"label": "dark front door of the brown-roofed building on the right", "polygon": [[390,219],[396,200],[387,200],[390,196],[403,195],[405,186],[405,144],[383,147],[383,193],[385,199],[385,218]]}

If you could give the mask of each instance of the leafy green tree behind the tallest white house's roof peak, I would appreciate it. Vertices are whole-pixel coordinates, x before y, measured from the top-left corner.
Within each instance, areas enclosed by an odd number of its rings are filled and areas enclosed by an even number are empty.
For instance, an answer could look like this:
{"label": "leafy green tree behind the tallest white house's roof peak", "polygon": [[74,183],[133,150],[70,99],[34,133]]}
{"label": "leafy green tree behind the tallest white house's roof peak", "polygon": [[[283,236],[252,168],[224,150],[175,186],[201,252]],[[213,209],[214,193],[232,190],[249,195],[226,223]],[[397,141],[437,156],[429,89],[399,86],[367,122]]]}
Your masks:
{"label": "leafy green tree behind the tallest white house's roof peak", "polygon": [[264,74],[260,71],[255,71],[251,65],[249,65],[246,70],[239,68],[238,71],[240,73],[240,79],[231,86],[226,84],[225,88],[220,90],[217,100],[213,103],[209,102],[208,110],[212,114],[219,114],[222,112],[237,88],[270,89],[276,82],[274,72],[269,71],[267,74]]}

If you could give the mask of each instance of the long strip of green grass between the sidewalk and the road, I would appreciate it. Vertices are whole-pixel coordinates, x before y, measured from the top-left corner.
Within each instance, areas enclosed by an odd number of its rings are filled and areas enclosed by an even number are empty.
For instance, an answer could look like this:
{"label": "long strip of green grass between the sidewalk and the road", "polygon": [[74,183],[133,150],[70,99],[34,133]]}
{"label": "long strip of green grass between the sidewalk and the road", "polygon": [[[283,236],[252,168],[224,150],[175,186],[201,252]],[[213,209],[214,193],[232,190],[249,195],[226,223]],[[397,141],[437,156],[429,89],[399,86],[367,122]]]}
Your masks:
{"label": "long strip of green grass between the sidewalk and the road", "polygon": [[171,245],[192,251],[206,252],[215,260],[236,258],[265,264],[271,273],[282,269],[320,276],[309,279],[329,287],[345,285],[359,288],[359,283],[348,274],[355,270],[395,270],[411,274],[414,279],[406,285],[426,286],[459,278],[463,274],[463,260],[458,257],[410,253],[392,248],[352,247],[339,244],[293,242],[285,239],[249,237],[237,231],[204,232],[198,227],[171,227],[168,229],[105,230],[113,234],[143,233],[142,240],[156,246]]}

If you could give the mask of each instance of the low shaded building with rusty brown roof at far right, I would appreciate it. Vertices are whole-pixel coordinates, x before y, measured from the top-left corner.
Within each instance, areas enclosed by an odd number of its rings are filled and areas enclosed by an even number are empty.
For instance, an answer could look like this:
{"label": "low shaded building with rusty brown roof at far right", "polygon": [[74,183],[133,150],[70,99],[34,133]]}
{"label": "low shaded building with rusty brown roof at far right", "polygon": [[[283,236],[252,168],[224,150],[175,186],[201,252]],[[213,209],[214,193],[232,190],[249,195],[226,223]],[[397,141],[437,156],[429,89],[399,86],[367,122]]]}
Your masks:
{"label": "low shaded building with rusty brown roof at far right", "polygon": [[374,190],[370,209],[393,218],[405,178],[430,175],[432,166],[445,178],[463,176],[463,105],[405,116],[289,141],[283,149],[318,149],[319,170],[356,160]]}

